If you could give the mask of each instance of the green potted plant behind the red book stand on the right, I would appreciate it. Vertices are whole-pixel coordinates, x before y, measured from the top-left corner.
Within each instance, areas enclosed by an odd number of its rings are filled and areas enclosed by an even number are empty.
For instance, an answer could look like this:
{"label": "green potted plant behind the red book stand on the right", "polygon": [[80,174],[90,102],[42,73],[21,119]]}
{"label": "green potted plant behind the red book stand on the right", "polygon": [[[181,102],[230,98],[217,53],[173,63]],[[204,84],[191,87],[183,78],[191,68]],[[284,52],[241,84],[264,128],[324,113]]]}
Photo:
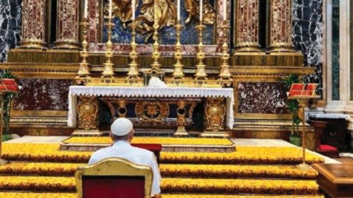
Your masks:
{"label": "green potted plant behind the red book stand on the right", "polygon": [[[291,74],[288,76],[288,78],[283,79],[283,82],[285,82],[285,87],[287,89],[287,92],[289,92],[289,89],[290,87],[292,87],[292,84],[301,82],[301,78],[299,78],[299,75],[297,74]],[[299,124],[301,122],[298,115],[299,101],[297,99],[288,99],[286,105],[289,113],[292,114],[291,135],[295,137],[299,137]]]}

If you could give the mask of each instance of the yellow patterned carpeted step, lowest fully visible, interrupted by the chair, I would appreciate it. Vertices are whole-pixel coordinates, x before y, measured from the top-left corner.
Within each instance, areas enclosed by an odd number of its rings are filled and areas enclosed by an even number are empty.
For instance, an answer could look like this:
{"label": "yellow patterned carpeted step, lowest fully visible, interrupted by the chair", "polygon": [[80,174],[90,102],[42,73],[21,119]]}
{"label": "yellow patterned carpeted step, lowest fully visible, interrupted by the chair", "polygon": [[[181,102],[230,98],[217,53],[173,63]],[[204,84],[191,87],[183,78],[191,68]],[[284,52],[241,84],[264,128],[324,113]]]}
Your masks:
{"label": "yellow patterned carpeted step, lowest fully visible, interrupted by the chair", "polygon": [[[1,176],[0,190],[75,192],[73,177]],[[317,195],[315,180],[162,178],[163,193]]]}

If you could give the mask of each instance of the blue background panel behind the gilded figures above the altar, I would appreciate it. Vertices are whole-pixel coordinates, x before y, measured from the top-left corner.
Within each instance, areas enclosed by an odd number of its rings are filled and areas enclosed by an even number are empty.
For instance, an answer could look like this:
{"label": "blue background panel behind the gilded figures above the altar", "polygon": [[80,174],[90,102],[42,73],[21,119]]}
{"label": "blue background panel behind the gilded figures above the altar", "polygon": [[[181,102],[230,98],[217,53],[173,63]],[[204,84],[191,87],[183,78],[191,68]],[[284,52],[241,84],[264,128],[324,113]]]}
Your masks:
{"label": "blue background panel behind the gilded figures above the altar", "polygon": [[[139,0],[140,4],[136,9],[136,17],[140,15],[140,8],[142,6],[142,0]],[[215,5],[215,0],[209,1],[211,5]],[[107,0],[104,0],[104,5],[107,4]],[[198,30],[196,25],[198,25],[198,20],[193,18],[189,23],[185,23],[185,20],[188,18],[188,13],[186,12],[184,5],[184,0],[181,0],[181,23],[184,25],[184,30],[181,31],[181,44],[198,44]],[[104,23],[107,22],[107,19],[104,19]],[[131,30],[128,27],[124,28],[121,20],[119,18],[114,18],[113,22],[115,27],[112,33],[112,42],[114,43],[125,43],[128,44],[131,42]],[[103,27],[103,41],[107,42],[107,28]],[[160,44],[175,44],[175,29],[174,27],[163,27],[160,30]],[[136,42],[138,44],[151,44],[153,42],[152,37],[145,42],[145,39],[148,35],[136,34]],[[215,44],[215,24],[206,25],[205,30],[203,31],[203,44]]]}

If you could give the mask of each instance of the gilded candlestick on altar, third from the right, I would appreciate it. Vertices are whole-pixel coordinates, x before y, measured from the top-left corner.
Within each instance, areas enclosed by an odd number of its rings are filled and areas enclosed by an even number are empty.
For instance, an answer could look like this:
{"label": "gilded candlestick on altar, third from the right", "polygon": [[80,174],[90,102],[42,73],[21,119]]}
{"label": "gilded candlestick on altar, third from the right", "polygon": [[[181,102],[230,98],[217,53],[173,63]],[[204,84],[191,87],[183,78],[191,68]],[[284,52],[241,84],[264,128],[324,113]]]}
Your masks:
{"label": "gilded candlestick on altar, third from the right", "polygon": [[179,85],[184,80],[184,65],[181,63],[183,59],[183,53],[181,52],[181,43],[180,43],[180,35],[181,35],[181,23],[180,20],[177,21],[177,25],[175,25],[176,35],[177,35],[177,43],[175,44],[175,52],[174,58],[177,63],[174,64],[174,73],[173,73],[173,83]]}

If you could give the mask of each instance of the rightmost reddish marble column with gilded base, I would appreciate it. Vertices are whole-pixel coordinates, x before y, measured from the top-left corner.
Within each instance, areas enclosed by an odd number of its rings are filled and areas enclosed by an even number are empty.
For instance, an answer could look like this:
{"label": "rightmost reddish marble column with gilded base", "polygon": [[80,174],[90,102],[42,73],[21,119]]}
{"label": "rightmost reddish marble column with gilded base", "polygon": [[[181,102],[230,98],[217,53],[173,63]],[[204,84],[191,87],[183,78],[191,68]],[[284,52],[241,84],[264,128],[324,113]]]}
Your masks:
{"label": "rightmost reddish marble column with gilded base", "polygon": [[270,52],[294,52],[292,0],[270,0]]}

